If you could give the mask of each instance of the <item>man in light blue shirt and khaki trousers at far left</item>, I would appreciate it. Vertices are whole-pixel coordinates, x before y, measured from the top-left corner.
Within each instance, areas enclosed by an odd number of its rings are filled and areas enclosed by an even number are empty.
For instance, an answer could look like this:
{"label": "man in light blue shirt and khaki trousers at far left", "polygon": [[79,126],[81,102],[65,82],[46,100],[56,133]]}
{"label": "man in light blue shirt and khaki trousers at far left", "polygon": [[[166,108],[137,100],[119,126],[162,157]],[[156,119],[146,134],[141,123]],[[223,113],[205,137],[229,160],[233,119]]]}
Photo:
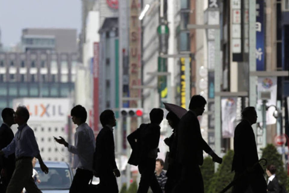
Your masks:
{"label": "man in light blue shirt and khaki trousers at far left", "polygon": [[16,163],[12,178],[8,184],[6,193],[21,192],[23,188],[28,192],[41,192],[32,178],[32,159],[36,157],[40,168],[47,174],[48,168],[43,163],[38,144],[33,130],[27,125],[29,111],[24,106],[19,106],[14,114],[14,121],[18,125],[18,131],[11,143],[0,151],[0,156],[15,153]]}

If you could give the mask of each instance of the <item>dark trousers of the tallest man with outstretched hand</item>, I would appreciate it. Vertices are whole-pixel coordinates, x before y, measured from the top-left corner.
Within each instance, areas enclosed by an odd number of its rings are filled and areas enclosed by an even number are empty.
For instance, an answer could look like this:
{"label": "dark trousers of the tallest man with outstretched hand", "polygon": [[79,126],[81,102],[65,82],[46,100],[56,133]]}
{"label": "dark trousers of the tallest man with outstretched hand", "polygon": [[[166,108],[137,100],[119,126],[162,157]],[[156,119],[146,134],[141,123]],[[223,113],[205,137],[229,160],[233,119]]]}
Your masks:
{"label": "dark trousers of the tallest man with outstretched hand", "polygon": [[172,192],[204,193],[204,182],[200,166],[188,164],[182,165],[181,168],[181,178]]}

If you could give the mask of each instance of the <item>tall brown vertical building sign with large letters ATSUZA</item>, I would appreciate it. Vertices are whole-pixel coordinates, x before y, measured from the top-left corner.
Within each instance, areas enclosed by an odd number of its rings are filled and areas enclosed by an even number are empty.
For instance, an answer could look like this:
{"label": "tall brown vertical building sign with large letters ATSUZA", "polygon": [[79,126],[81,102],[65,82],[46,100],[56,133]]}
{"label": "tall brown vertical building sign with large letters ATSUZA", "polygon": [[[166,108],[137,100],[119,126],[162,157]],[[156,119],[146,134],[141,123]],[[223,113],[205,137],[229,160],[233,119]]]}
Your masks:
{"label": "tall brown vertical building sign with large letters ATSUZA", "polygon": [[[140,21],[138,0],[129,1],[129,96],[139,97],[140,90],[133,86],[140,85],[141,64],[140,64]],[[137,107],[137,101],[131,100],[130,107]]]}

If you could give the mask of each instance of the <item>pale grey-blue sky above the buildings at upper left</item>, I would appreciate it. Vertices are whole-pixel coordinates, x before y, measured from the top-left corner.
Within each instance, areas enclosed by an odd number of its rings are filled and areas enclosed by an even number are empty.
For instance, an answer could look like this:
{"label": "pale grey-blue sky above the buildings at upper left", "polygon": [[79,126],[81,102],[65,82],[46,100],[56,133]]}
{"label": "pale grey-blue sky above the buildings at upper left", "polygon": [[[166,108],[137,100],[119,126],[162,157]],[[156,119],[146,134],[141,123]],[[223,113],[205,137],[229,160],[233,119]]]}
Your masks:
{"label": "pale grey-blue sky above the buildings at upper left", "polygon": [[20,42],[23,28],[81,29],[81,0],[0,0],[1,42]]}

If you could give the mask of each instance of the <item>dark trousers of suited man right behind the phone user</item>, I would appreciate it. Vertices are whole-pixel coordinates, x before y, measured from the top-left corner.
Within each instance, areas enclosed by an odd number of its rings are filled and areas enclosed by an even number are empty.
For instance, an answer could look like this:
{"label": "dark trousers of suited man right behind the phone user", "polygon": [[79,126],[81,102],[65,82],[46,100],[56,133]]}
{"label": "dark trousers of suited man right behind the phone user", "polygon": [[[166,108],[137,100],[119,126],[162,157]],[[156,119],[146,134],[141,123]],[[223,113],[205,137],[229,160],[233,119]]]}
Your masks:
{"label": "dark trousers of suited man right behind the phone user", "polygon": [[113,171],[111,169],[104,169],[100,173],[98,192],[118,193],[117,179]]}

